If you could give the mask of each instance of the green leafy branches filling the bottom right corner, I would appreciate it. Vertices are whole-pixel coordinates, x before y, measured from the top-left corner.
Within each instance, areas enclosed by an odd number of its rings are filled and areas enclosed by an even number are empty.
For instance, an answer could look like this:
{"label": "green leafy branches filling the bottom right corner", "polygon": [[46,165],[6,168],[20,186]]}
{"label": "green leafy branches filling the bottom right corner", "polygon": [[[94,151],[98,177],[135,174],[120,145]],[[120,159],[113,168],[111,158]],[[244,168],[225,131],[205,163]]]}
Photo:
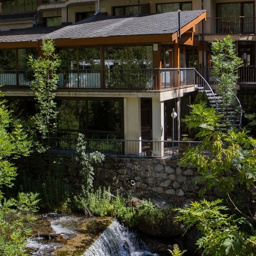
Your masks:
{"label": "green leafy branches filling the bottom right corner", "polygon": [[185,232],[193,226],[201,231],[202,237],[197,245],[198,249],[203,249],[202,255],[253,256],[256,243],[255,237],[249,233],[252,230],[251,224],[245,218],[229,216],[228,208],[221,203],[220,199],[213,202],[205,199],[195,201],[189,208],[176,209],[180,216],[175,219],[186,225]]}

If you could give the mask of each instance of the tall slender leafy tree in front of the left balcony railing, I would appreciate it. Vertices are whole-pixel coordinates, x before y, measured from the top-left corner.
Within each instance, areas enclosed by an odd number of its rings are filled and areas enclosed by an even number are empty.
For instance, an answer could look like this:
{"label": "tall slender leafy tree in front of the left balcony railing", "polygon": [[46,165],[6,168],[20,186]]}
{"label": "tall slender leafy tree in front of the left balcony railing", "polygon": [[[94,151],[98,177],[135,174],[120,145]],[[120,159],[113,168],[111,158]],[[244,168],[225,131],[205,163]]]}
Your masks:
{"label": "tall slender leafy tree in front of the left balcony railing", "polygon": [[38,113],[35,115],[35,123],[42,137],[49,138],[56,129],[57,112],[54,102],[58,82],[57,68],[60,66],[58,55],[55,54],[52,39],[43,39],[41,50],[44,56],[28,58],[28,63],[34,71],[35,80],[31,82],[31,89],[37,99]]}

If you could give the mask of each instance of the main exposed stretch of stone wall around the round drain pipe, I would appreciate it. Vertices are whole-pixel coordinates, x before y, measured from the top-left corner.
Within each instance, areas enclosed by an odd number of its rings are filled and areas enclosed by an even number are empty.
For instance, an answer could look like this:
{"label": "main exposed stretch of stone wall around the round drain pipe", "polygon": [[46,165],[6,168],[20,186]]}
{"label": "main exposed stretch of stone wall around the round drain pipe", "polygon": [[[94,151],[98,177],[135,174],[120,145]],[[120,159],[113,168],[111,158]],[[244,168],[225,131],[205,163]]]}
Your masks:
{"label": "main exposed stretch of stone wall around the round drain pipe", "polygon": [[[173,205],[199,199],[196,169],[181,168],[178,160],[106,157],[95,168],[95,186],[110,186],[139,198],[152,198]],[[208,195],[209,197],[209,195]]]}

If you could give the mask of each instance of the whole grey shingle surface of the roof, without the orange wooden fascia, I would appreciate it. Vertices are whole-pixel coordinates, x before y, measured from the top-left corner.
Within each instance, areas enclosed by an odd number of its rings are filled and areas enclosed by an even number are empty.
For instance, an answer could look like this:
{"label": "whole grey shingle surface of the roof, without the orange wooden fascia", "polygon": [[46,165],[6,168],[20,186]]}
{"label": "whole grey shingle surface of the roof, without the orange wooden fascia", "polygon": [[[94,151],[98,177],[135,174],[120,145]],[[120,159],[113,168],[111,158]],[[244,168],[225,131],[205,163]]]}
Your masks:
{"label": "whole grey shingle surface of the roof, without the orange wooden fascia", "polygon": [[[180,12],[180,27],[184,27],[205,10]],[[137,14],[132,16],[106,16],[102,13],[66,27],[32,27],[0,31],[0,44],[28,42],[43,38],[99,38],[133,35],[173,34],[179,29],[178,12]]]}

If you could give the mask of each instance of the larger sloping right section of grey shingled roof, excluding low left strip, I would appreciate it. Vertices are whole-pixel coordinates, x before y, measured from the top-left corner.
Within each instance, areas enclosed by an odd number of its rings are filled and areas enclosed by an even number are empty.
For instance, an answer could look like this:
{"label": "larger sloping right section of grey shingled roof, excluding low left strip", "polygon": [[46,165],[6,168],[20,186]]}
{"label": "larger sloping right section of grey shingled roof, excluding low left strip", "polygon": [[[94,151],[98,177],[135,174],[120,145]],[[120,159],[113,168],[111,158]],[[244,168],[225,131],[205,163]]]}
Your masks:
{"label": "larger sloping right section of grey shingled roof, excluding low left strip", "polygon": [[[181,28],[204,10],[180,12]],[[137,14],[132,16],[96,15],[50,34],[57,38],[173,34],[179,29],[178,12]]]}

